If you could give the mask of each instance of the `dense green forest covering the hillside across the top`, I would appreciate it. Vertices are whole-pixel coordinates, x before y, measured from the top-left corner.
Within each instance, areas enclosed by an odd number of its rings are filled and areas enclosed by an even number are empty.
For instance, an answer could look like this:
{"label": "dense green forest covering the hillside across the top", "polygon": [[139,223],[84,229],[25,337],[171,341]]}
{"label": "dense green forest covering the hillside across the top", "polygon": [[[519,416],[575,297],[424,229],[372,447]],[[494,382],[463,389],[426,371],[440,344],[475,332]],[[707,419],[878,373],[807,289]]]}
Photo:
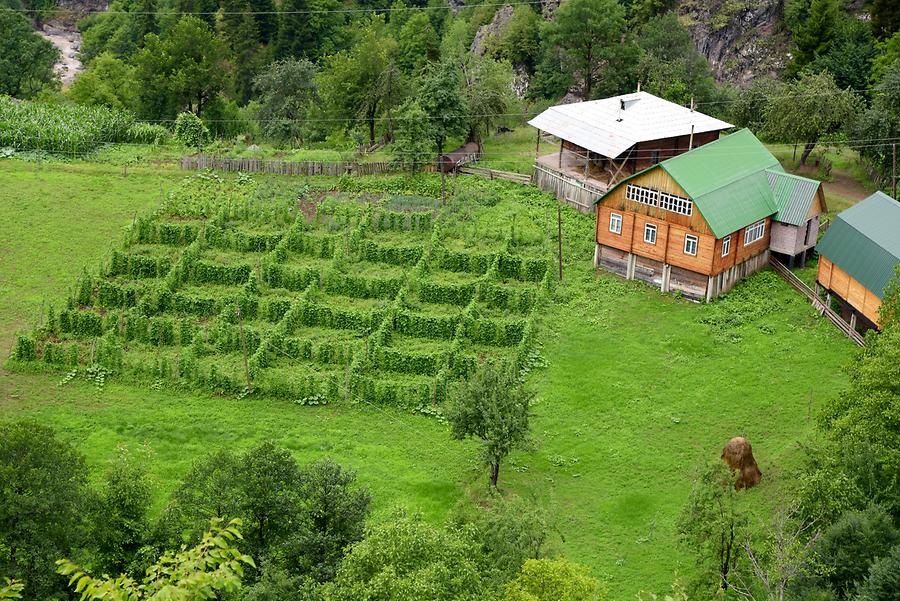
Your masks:
{"label": "dense green forest covering the hillside across the top", "polygon": [[[62,13],[4,1],[0,94],[103,105],[170,129],[191,112],[210,135],[251,143],[396,139],[398,158],[426,160],[446,138],[480,141],[567,94],[602,98],[639,83],[802,143],[804,160],[820,139],[844,139],[884,172],[888,145],[871,142],[900,135],[900,11],[882,0],[788,0],[781,79],[761,73],[743,88],[716,82],[692,38],[696,15],[673,0],[114,0]],[[721,29],[750,9],[711,10]],[[60,14],[81,16],[86,65],[64,92],[54,48],[32,34]]]}

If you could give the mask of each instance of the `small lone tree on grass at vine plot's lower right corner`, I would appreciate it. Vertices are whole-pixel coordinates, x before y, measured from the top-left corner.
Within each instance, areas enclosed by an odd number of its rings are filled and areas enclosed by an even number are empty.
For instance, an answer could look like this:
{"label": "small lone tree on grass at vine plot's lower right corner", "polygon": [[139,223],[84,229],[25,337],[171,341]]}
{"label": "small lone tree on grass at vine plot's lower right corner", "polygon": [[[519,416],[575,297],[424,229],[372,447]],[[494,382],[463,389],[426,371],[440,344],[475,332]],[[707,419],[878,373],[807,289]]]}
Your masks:
{"label": "small lone tree on grass at vine plot's lower right corner", "polygon": [[532,395],[504,365],[487,363],[457,389],[447,409],[452,436],[481,440],[482,458],[497,487],[500,462],[528,442],[528,406]]}

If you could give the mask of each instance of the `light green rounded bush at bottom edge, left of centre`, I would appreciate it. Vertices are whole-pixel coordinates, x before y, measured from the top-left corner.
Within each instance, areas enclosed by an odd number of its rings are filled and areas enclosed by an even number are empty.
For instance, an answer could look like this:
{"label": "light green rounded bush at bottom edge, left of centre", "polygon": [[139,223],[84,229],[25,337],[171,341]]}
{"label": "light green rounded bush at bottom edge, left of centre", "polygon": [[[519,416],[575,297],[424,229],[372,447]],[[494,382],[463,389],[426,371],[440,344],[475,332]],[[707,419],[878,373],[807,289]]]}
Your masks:
{"label": "light green rounded bush at bottom edge, left of centre", "polygon": [[334,581],[325,585],[324,597],[327,601],[483,599],[485,584],[473,551],[462,534],[399,515],[370,528],[350,548]]}

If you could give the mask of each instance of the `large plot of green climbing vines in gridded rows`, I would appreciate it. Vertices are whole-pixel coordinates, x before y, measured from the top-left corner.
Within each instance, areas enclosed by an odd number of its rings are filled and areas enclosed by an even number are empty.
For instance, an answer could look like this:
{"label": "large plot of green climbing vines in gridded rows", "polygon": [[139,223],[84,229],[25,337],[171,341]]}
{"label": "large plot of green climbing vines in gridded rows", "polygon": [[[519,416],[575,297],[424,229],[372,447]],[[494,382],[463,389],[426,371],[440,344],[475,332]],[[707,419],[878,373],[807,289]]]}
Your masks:
{"label": "large plot of green climbing vines in gridded rows", "polygon": [[398,196],[329,197],[312,220],[278,196],[247,178],[186,178],[17,339],[13,362],[429,413],[480,361],[534,362],[549,240],[510,228],[466,242],[458,215]]}

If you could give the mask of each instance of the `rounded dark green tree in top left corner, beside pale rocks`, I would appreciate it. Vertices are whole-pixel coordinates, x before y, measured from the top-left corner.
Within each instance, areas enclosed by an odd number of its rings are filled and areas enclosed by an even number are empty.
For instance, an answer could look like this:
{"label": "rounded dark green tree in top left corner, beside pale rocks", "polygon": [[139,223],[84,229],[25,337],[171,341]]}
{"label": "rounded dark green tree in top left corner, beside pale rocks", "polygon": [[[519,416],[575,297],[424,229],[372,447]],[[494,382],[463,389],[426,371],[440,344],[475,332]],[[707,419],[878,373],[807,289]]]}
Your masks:
{"label": "rounded dark green tree in top left corner, beside pale rocks", "polygon": [[0,101],[4,95],[32,98],[50,86],[56,79],[56,47],[34,31],[24,14],[5,6],[0,6],[0,31]]}

